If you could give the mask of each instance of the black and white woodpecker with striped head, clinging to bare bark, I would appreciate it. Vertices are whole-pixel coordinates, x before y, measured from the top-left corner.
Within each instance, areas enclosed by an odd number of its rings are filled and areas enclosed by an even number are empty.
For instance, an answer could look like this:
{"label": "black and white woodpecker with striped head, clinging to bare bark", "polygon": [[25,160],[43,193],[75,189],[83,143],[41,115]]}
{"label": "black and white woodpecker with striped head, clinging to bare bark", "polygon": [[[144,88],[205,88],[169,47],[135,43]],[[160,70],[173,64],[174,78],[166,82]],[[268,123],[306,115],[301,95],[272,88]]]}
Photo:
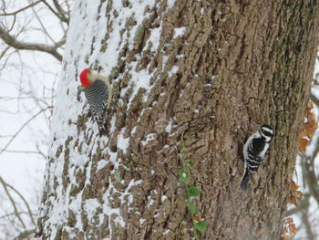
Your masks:
{"label": "black and white woodpecker with striped head, clinging to bare bark", "polygon": [[258,170],[259,165],[269,151],[273,139],[273,128],[262,125],[252,134],[243,146],[244,172],[242,174],[242,189],[246,189],[252,172]]}

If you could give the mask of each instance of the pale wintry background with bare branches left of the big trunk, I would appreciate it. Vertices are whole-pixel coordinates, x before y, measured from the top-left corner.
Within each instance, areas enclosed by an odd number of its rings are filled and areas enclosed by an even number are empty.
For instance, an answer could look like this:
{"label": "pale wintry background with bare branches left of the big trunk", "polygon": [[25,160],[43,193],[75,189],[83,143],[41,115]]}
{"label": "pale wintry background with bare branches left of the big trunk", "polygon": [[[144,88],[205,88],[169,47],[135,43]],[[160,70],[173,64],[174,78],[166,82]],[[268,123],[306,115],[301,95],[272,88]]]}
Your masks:
{"label": "pale wintry background with bare branches left of the big trunk", "polygon": [[34,238],[69,4],[0,1],[0,239]]}

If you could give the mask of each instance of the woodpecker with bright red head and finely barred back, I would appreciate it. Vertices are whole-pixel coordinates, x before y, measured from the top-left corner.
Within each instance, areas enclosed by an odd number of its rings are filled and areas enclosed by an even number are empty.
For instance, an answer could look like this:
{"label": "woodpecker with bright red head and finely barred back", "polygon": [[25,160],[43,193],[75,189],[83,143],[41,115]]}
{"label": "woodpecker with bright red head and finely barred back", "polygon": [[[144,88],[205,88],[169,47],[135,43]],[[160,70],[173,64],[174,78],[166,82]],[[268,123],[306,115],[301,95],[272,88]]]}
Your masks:
{"label": "woodpecker with bright red head and finely barred back", "polygon": [[99,133],[102,134],[106,131],[105,115],[112,100],[112,87],[108,78],[93,74],[90,68],[81,72],[80,81],[84,87],[89,109],[98,122]]}

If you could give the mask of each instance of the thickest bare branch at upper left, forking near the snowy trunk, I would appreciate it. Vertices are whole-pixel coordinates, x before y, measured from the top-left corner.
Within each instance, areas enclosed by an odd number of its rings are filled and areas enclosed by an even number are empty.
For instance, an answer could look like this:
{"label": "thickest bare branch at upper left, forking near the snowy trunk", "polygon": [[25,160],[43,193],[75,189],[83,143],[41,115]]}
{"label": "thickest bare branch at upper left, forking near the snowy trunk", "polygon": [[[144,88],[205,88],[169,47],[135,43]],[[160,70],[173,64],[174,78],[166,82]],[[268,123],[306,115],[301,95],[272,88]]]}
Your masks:
{"label": "thickest bare branch at upper left, forking near the snowy trunk", "polygon": [[54,46],[47,46],[44,44],[30,44],[26,42],[20,42],[15,40],[15,37],[9,35],[5,29],[0,26],[0,37],[4,40],[4,42],[11,46],[15,47],[15,49],[20,50],[35,50],[40,52],[46,52],[53,57],[56,57],[58,61],[62,61],[62,56],[57,52],[57,48],[65,44],[65,38],[61,39],[56,45]]}

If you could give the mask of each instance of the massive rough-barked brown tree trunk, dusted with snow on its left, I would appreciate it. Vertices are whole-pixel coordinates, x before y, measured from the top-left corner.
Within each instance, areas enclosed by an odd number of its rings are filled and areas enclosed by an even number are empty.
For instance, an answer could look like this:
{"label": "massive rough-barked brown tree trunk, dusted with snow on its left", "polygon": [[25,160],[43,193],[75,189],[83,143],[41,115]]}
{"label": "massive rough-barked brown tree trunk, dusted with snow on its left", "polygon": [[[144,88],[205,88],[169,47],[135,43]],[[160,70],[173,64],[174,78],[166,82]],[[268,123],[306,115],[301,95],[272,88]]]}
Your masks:
{"label": "massive rough-barked brown tree trunk, dusted with snow on its left", "polygon": [[[191,239],[179,181],[192,161],[205,239],[278,239],[309,96],[314,1],[77,0],[67,35],[42,239]],[[78,73],[114,88],[108,134],[88,113]],[[240,188],[242,143],[275,129],[270,156]]]}

